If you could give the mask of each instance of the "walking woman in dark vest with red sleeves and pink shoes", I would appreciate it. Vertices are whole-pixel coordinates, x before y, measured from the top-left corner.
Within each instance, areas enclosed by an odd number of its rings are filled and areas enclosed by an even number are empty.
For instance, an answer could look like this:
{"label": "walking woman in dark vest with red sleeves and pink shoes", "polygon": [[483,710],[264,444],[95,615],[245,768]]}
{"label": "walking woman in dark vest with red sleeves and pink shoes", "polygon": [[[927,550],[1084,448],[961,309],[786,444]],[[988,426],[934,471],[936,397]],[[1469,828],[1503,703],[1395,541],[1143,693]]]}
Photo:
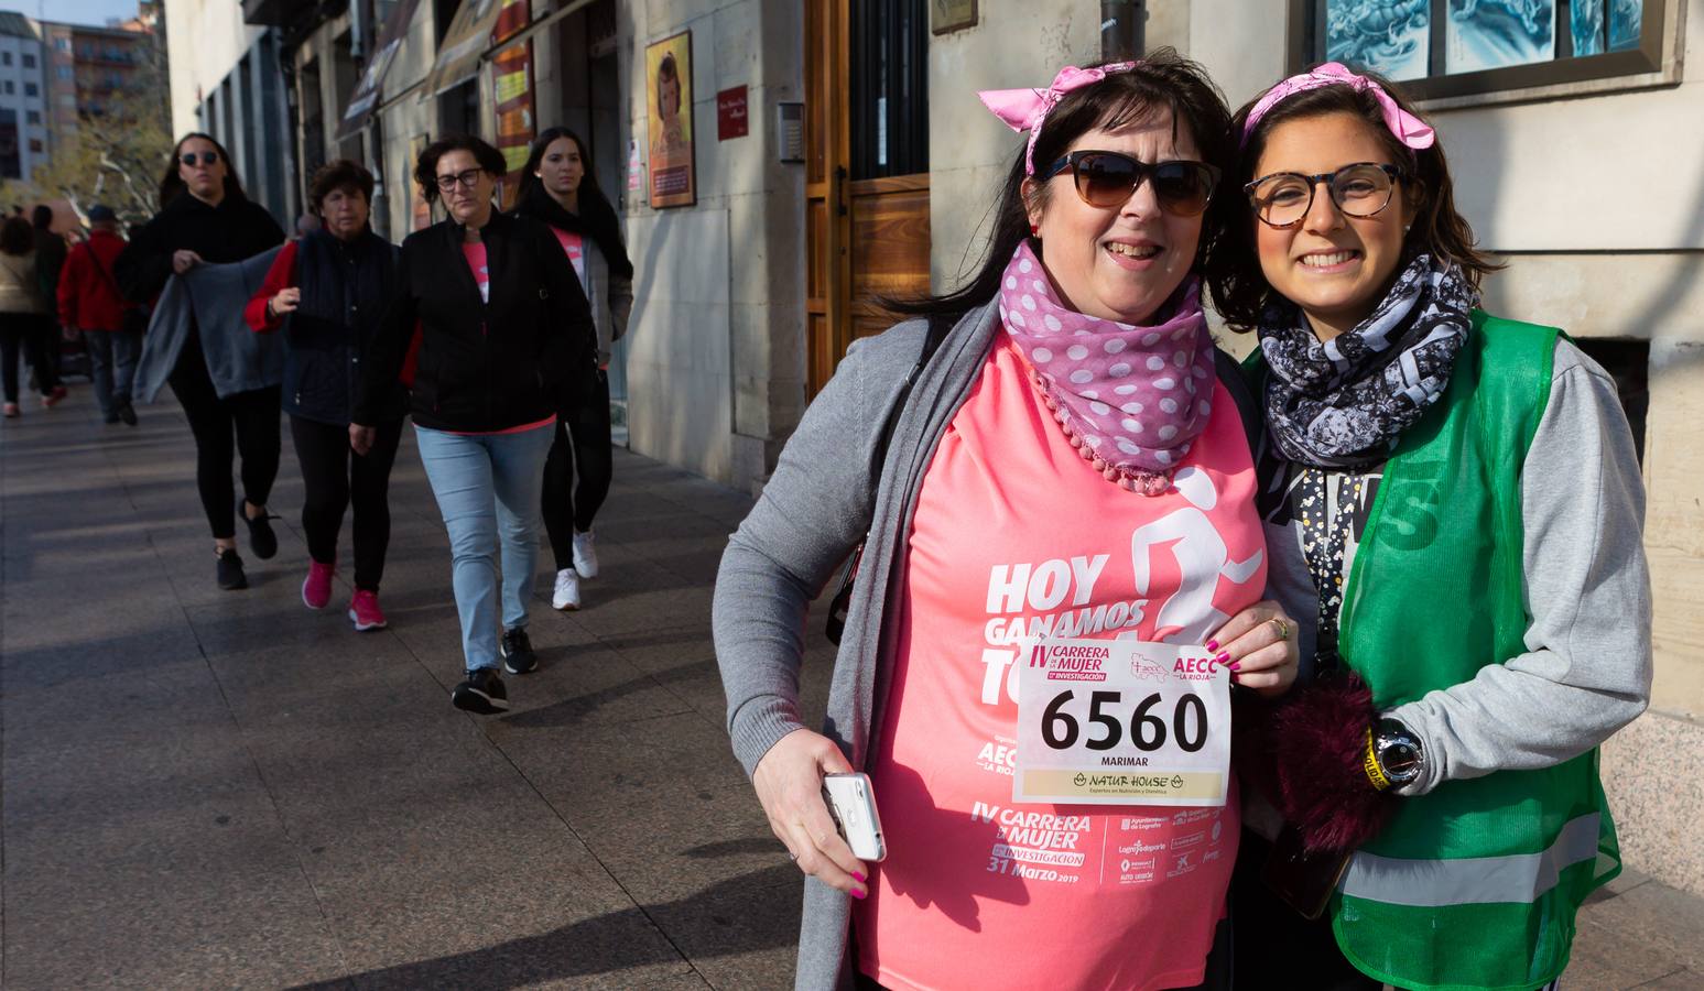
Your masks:
{"label": "walking woman in dark vest with red sleeves and pink shoes", "polygon": [[361,359],[395,284],[397,249],[373,233],[373,174],[348,158],[322,165],[308,189],[320,226],[278,252],[266,284],[245,317],[259,334],[285,329],[285,393],[290,438],[302,463],[307,497],[302,530],[308,538],[308,576],[302,601],[331,603],[337,569],[337,531],[354,502],[356,630],[385,627],[378,581],[390,543],[390,467],[402,438],[407,393],[390,381],[373,397],[373,444],[351,456],[349,421],[365,368]]}

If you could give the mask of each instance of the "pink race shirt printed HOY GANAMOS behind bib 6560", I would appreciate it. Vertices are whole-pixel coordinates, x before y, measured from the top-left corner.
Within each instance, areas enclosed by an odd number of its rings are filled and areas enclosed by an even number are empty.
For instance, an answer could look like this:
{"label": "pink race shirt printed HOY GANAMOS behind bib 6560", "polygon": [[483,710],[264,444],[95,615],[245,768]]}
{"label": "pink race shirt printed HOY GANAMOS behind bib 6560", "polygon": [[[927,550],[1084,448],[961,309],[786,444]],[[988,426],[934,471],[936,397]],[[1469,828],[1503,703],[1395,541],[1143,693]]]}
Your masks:
{"label": "pink race shirt printed HOY GANAMOS behind bib 6560", "polygon": [[1031,632],[1201,644],[1261,598],[1266,545],[1237,407],[1166,496],[1101,478],[1000,332],[924,475],[869,773],[888,860],[854,902],[889,988],[1198,984],[1237,858],[1223,809],[1012,802]]}

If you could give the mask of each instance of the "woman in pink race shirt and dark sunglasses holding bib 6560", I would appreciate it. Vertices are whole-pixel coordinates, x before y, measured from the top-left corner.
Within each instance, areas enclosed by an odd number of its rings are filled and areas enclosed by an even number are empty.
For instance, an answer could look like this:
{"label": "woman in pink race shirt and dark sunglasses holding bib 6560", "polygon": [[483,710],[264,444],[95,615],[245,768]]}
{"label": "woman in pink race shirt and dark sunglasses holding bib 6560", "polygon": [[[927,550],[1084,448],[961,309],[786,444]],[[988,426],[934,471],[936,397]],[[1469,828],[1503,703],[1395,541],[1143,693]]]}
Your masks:
{"label": "woman in pink race shirt and dark sunglasses holding bib 6560", "polygon": [[[1029,131],[987,261],[908,306],[927,322],[849,351],[717,579],[734,753],[809,875],[797,986],[1227,988],[1235,787],[1201,807],[1017,802],[1012,768],[1036,630],[1205,644],[1263,695],[1295,678],[1288,616],[1261,601],[1247,395],[1195,276],[1230,114],[1171,51],[982,99]],[[804,613],[859,543],[818,734]],[[879,865],[820,797],[852,770],[881,805]]]}

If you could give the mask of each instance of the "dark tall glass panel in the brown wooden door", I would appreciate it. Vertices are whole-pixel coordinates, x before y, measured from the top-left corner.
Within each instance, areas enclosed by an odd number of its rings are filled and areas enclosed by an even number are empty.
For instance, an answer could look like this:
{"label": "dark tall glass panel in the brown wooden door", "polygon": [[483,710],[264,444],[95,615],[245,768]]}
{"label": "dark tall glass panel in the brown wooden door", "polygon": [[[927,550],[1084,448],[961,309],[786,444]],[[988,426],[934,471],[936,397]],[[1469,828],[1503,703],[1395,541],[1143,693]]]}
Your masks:
{"label": "dark tall glass panel in the brown wooden door", "polygon": [[929,172],[929,5],[854,3],[852,179]]}

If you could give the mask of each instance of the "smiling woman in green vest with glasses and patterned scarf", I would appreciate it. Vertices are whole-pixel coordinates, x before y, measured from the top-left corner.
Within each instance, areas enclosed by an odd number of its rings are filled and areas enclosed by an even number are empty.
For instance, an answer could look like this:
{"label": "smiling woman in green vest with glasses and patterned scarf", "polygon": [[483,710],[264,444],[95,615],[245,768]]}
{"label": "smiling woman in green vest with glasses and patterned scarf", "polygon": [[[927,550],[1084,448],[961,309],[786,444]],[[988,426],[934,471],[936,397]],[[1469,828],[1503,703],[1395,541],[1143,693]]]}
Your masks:
{"label": "smiling woman in green vest with glasses and patterned scarf", "polygon": [[1597,746],[1651,683],[1614,381],[1477,308],[1500,266],[1389,83],[1322,65],[1234,128],[1247,199],[1208,272],[1259,335],[1268,594],[1310,679],[1239,746],[1331,891],[1307,923],[1241,885],[1239,986],[1542,988],[1621,870]]}

